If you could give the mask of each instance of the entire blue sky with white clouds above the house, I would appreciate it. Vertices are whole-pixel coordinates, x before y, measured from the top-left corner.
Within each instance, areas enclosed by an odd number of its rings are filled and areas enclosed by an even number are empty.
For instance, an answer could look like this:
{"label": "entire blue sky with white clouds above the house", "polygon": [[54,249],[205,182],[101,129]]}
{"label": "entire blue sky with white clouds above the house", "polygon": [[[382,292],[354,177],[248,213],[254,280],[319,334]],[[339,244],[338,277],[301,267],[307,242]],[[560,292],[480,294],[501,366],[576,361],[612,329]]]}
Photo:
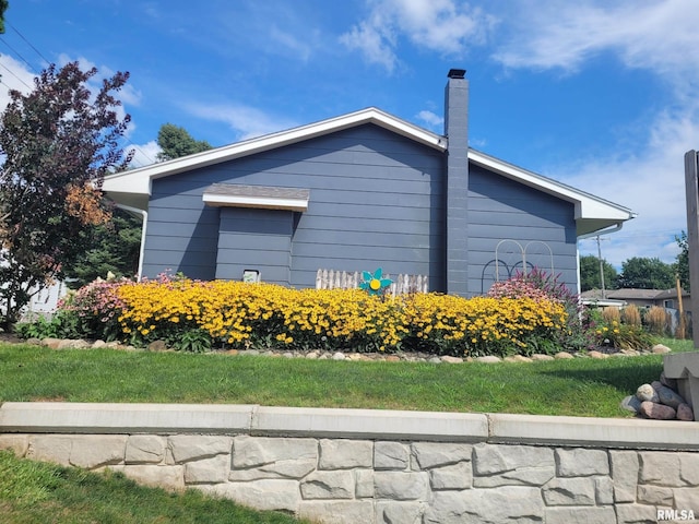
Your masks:
{"label": "entire blue sky with white clouds above the house", "polygon": [[376,106],[441,132],[463,68],[472,147],[638,213],[603,237],[612,264],[673,262],[687,228],[694,0],[10,0],[5,21],[0,107],[49,62],[129,71],[140,164],[165,122],[224,145]]}

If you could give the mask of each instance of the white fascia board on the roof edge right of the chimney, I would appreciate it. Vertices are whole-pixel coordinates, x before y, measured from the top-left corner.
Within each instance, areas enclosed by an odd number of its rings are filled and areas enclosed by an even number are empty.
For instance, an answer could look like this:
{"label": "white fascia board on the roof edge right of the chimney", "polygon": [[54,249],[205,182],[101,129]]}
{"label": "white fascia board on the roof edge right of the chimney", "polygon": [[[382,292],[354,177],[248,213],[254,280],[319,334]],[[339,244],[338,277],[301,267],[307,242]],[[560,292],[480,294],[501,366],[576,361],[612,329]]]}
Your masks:
{"label": "white fascia board on the roof edge right of the chimney", "polygon": [[584,191],[577,190],[570,186],[566,186],[565,183],[552,180],[550,178],[542,177],[535,172],[521,169],[484,153],[469,150],[469,160],[512,180],[524,183],[525,186],[530,186],[540,191],[544,191],[573,203],[576,206],[576,219],[601,218],[623,222],[629,221],[636,216],[636,213],[627,207],[600,199]]}

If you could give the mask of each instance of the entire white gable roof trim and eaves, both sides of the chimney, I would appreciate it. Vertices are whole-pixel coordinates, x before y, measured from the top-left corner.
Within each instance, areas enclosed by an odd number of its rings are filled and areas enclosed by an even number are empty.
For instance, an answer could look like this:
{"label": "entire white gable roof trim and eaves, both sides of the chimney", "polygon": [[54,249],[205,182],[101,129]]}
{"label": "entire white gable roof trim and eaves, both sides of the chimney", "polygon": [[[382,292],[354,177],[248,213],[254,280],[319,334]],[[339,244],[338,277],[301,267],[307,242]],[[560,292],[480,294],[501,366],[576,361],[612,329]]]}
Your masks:
{"label": "entire white gable roof trim and eaves, both sides of the chimney", "polygon": [[[119,204],[147,211],[151,181],[154,179],[241,158],[367,123],[379,126],[439,152],[446,152],[448,150],[449,142],[446,136],[391,116],[375,107],[370,107],[320,122],[237,142],[174,160],[152,164],[138,169],[110,175],[105,177],[102,189],[111,200]],[[636,214],[627,207],[528,171],[484,153],[469,150],[469,160],[503,177],[574,204],[574,218],[577,223],[577,235],[579,237],[592,235],[608,228],[618,228],[625,221],[636,216]]]}

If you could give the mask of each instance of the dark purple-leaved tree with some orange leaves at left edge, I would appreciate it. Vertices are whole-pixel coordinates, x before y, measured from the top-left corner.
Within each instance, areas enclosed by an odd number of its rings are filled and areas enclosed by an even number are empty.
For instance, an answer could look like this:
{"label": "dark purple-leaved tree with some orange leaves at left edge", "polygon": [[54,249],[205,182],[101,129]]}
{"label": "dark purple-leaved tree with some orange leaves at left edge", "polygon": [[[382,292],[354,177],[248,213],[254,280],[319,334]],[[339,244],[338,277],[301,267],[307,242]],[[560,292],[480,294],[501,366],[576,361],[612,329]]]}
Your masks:
{"label": "dark purple-leaved tree with some orange leaves at left edge", "polygon": [[5,327],[33,293],[86,250],[81,231],[109,211],[98,189],[105,174],[126,168],[119,147],[130,117],[115,98],[129,74],[117,72],[91,93],[96,69],[51,64],[24,95],[10,91],[0,116],[0,311]]}

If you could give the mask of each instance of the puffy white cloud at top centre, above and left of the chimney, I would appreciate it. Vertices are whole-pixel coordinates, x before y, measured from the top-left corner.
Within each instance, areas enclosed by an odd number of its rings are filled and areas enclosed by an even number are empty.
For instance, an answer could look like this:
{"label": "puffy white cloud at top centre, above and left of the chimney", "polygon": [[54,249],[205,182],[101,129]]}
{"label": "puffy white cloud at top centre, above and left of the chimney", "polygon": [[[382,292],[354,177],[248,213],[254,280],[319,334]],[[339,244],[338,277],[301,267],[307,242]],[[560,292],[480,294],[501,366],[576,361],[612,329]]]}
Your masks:
{"label": "puffy white cloud at top centre, above and left of the chimney", "polygon": [[495,17],[459,0],[370,0],[366,20],[340,37],[370,63],[392,72],[400,63],[399,40],[441,55],[461,56],[483,44]]}

